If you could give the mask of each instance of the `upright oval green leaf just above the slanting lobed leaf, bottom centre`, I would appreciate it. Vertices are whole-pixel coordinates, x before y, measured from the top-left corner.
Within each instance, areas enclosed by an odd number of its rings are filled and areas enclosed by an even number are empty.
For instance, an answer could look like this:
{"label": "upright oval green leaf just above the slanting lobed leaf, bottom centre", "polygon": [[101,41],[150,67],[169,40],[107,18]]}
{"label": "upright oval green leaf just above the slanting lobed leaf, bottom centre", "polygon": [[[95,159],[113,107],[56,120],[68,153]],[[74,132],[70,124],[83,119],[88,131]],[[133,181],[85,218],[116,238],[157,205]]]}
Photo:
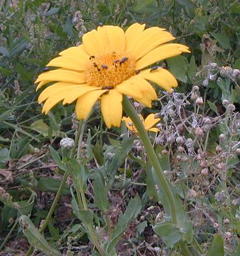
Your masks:
{"label": "upright oval green leaf just above the slanting lobed leaf, bottom centre", "polygon": [[109,209],[109,202],[107,200],[108,187],[105,185],[100,174],[94,180],[94,201],[97,207],[103,212]]}

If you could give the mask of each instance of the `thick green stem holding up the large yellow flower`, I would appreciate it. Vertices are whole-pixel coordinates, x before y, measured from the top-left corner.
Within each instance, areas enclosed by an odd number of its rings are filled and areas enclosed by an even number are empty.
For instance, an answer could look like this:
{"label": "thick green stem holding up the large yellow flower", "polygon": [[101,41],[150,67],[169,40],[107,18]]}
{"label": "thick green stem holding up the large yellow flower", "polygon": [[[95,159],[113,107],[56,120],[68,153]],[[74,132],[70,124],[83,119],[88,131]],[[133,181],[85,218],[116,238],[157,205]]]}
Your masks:
{"label": "thick green stem holding up the large yellow flower", "polygon": [[[155,170],[156,175],[160,180],[161,187],[165,191],[166,197],[168,197],[170,214],[171,214],[171,222],[178,225],[178,216],[177,216],[176,205],[175,205],[175,197],[173,196],[173,193],[171,192],[171,188],[169,187],[168,182],[163,173],[163,170],[161,169],[161,165],[158,161],[155,151],[153,150],[153,146],[151,145],[151,141],[146,133],[143,123],[140,120],[137,114],[137,111],[133,107],[132,103],[130,103],[130,101],[128,100],[127,96],[123,96],[123,109],[125,113],[131,118],[131,120],[133,121],[133,124],[137,128],[138,135],[140,136],[143,146],[145,147],[151,166],[153,166],[153,169]],[[181,240],[179,244],[180,244],[181,250],[185,253],[184,255],[186,256],[192,255],[190,250],[188,250],[188,247],[186,246],[186,244],[183,242],[183,240]]]}

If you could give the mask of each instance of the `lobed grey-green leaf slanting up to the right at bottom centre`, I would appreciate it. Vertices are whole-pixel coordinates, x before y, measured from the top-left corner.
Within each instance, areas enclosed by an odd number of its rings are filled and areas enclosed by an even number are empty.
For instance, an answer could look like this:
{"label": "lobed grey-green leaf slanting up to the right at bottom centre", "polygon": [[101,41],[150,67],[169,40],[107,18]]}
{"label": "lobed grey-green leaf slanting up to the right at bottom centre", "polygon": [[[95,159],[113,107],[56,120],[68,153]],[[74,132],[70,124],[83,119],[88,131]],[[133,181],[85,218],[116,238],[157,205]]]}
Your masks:
{"label": "lobed grey-green leaf slanting up to the right at bottom centre", "polygon": [[128,225],[132,222],[134,218],[138,216],[138,214],[141,212],[141,209],[141,198],[138,195],[136,195],[134,199],[130,199],[130,202],[128,203],[125,213],[122,214],[121,212],[119,215],[117,225],[112,233],[112,240],[110,240],[110,242],[107,245],[106,250],[108,253],[110,253],[113,250],[118,240],[120,240],[122,234],[127,229]]}

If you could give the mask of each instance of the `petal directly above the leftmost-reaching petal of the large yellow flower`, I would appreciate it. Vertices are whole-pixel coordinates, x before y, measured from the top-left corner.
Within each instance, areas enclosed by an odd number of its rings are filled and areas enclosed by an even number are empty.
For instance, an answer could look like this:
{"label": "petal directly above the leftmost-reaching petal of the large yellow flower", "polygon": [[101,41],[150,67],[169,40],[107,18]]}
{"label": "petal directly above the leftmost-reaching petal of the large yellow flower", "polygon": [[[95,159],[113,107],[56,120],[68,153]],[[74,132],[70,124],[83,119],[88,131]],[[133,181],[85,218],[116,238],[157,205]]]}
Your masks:
{"label": "petal directly above the leftmost-reaching petal of the large yellow flower", "polygon": [[89,63],[89,59],[80,59],[73,58],[69,56],[60,56],[55,59],[52,59],[47,66],[55,66],[60,68],[73,69],[77,71],[82,71],[85,69],[87,63]]}

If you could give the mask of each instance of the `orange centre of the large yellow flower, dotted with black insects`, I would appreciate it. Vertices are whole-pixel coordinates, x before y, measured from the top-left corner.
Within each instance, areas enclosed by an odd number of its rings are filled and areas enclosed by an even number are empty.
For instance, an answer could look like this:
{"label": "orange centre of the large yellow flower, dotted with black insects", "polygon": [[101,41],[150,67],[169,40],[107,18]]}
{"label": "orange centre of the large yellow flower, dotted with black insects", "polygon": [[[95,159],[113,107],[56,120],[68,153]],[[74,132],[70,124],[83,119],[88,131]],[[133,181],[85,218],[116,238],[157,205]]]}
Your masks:
{"label": "orange centre of the large yellow flower, dotted with black insects", "polygon": [[124,53],[108,53],[90,56],[90,64],[85,69],[85,78],[90,86],[113,89],[135,75],[135,59]]}

